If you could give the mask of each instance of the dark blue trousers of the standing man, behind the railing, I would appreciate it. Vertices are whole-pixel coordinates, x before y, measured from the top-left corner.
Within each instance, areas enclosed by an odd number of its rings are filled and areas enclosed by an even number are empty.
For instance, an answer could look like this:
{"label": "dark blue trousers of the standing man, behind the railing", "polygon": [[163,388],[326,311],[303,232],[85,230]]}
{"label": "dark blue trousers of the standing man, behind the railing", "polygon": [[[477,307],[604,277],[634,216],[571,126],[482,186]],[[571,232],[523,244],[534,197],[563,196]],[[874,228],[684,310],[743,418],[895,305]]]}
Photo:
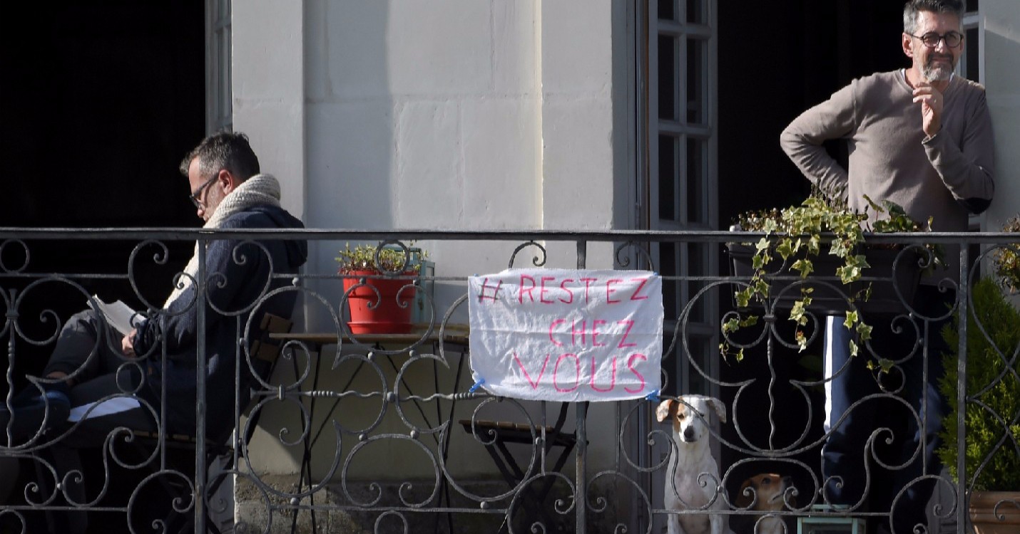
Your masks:
{"label": "dark blue trousers of the standing man, behind the railing", "polygon": [[[949,409],[938,392],[946,349],[940,329],[955,297],[922,285],[914,299],[918,317],[864,317],[872,338],[853,359],[844,318],[829,317],[826,324],[825,376],[832,379],[825,385],[823,494],[870,512],[886,512],[898,499],[895,532],[925,523],[933,482],[919,477],[941,470],[934,449]],[[868,368],[878,358],[895,361],[888,373]]]}

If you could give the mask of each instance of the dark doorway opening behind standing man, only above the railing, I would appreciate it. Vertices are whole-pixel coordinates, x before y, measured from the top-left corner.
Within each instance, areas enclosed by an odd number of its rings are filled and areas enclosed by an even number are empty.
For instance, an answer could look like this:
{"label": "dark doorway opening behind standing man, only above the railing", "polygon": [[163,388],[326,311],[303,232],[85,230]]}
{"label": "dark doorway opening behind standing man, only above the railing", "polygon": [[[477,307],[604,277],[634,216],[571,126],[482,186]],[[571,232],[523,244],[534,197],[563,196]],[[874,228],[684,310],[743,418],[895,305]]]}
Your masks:
{"label": "dark doorway opening behind standing man, only above the railing", "polygon": [[903,5],[719,2],[719,191],[741,192],[720,193],[720,228],[737,213],[807,196],[809,183],[779,148],[779,132],[853,78],[909,65],[900,49]]}

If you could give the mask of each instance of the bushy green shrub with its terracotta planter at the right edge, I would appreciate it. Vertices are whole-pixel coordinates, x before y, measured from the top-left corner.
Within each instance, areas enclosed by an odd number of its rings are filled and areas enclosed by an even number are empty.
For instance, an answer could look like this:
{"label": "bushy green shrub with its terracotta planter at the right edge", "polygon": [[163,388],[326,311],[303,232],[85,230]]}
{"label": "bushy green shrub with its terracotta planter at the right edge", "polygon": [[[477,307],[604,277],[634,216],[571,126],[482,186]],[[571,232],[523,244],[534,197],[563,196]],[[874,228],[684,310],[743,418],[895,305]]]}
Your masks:
{"label": "bushy green shrub with its terracotta planter at the right edge", "polygon": [[[1016,220],[1012,231],[1016,227]],[[1011,230],[1007,225],[1007,230]],[[967,324],[967,403],[963,453],[970,520],[978,534],[1020,531],[1020,311],[1010,301],[1020,286],[1017,254],[996,255],[996,277],[978,280],[971,289]],[[998,282],[998,283],[997,283]],[[1012,288],[1012,289],[1011,289]],[[950,352],[942,356],[946,375],[939,389],[950,404],[939,437],[938,458],[955,480],[957,472],[957,403],[960,314],[942,328]]]}

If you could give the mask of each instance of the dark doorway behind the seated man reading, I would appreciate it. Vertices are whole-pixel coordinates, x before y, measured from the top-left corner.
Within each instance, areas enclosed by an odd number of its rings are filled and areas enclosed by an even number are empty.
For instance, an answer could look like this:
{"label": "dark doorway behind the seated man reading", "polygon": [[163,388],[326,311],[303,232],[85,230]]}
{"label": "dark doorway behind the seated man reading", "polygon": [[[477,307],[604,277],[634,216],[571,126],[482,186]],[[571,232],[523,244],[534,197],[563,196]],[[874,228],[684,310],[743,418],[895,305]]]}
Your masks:
{"label": "dark doorway behind the seated man reading", "polygon": [[[204,26],[202,0],[0,8],[0,227],[197,226],[176,167],[205,132]],[[136,245],[7,239],[2,288],[20,296],[33,281],[12,271],[125,275]],[[169,273],[135,277],[159,304],[194,246],[165,245]],[[84,308],[83,292],[141,307],[123,277],[45,285],[38,306],[59,317]],[[37,305],[16,306],[23,323],[39,317],[30,315]],[[34,360],[28,344],[18,346],[20,362]]]}

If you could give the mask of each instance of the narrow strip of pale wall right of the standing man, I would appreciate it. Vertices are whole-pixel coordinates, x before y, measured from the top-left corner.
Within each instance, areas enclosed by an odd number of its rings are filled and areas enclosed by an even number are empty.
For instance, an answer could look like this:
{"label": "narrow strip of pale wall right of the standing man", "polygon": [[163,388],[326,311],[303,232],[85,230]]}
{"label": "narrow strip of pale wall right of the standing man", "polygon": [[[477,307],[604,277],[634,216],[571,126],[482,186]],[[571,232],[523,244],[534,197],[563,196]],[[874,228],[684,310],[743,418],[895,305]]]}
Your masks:
{"label": "narrow strip of pale wall right of the standing man", "polygon": [[996,132],[996,199],[983,229],[997,231],[1020,213],[1020,3],[984,0],[984,85]]}

